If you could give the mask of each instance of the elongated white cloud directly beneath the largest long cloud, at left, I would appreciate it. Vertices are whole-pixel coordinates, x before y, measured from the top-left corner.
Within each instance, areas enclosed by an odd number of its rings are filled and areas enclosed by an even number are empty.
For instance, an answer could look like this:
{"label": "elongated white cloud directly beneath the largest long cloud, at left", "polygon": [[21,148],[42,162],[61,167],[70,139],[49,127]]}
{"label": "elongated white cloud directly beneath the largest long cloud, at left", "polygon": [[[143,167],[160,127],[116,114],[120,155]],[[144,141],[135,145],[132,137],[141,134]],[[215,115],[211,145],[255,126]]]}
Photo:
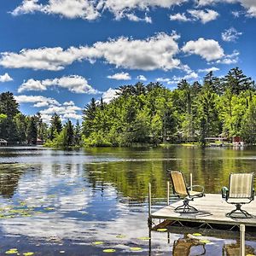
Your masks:
{"label": "elongated white cloud directly beneath the largest long cloud, at left", "polygon": [[45,79],[41,81],[29,79],[20,85],[18,92],[28,90],[47,90],[50,86],[65,88],[74,93],[99,93],[97,90],[93,89],[90,84],[88,84],[86,79],[77,75],[62,77],[61,79]]}

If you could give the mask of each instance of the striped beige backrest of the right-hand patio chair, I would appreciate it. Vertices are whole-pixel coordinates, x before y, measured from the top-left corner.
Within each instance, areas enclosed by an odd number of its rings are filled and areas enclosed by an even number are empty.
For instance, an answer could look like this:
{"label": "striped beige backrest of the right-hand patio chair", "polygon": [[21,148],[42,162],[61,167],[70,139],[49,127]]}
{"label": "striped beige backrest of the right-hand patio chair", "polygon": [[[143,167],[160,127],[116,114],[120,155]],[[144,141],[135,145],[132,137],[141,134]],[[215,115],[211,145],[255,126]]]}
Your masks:
{"label": "striped beige backrest of the right-hand patio chair", "polygon": [[230,173],[230,198],[251,198],[253,196],[253,172]]}

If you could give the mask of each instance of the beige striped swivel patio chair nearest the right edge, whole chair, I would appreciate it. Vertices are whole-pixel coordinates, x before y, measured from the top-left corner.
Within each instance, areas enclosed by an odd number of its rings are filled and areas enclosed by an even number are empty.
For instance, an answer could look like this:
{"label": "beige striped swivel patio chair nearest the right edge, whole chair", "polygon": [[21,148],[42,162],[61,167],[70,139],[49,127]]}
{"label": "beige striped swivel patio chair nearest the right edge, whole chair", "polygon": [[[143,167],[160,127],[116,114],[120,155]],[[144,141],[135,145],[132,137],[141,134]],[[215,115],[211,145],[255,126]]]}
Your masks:
{"label": "beige striped swivel patio chair nearest the right edge, whole chair", "polygon": [[230,218],[252,218],[253,216],[241,206],[248,204],[254,199],[253,189],[254,173],[230,173],[229,189],[222,189],[222,197],[229,204],[236,206],[236,209],[226,213]]}

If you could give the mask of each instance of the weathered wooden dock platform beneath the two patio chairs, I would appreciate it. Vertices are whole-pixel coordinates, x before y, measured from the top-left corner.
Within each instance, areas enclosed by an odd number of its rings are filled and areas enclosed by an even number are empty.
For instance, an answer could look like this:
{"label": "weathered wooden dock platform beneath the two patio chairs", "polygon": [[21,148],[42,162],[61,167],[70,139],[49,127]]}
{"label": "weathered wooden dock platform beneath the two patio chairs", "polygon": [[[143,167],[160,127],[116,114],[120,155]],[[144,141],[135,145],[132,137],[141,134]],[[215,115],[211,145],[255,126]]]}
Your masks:
{"label": "weathered wooden dock platform beneath the two patio chairs", "polygon": [[234,205],[224,201],[220,194],[207,194],[204,197],[196,198],[189,202],[192,207],[197,208],[198,213],[177,213],[174,209],[182,205],[182,201],[177,201],[169,206],[163,207],[156,212],[150,211],[149,220],[160,219],[163,221],[194,223],[194,224],[224,224],[229,226],[238,226],[245,224],[247,227],[256,227],[256,201],[242,206],[242,209],[253,215],[253,218],[228,218],[227,212],[235,209]]}

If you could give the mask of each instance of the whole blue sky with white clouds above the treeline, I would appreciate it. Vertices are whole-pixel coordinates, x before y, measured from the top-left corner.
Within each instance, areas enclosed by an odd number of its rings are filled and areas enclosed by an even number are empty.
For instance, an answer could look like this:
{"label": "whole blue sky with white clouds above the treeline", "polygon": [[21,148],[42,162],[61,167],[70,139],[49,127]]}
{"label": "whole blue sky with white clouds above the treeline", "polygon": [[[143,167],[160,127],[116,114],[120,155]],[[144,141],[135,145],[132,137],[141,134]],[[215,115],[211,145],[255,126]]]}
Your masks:
{"label": "whole blue sky with white clouds above the treeline", "polygon": [[46,121],[137,81],[256,79],[254,0],[2,0],[0,30],[0,92]]}

